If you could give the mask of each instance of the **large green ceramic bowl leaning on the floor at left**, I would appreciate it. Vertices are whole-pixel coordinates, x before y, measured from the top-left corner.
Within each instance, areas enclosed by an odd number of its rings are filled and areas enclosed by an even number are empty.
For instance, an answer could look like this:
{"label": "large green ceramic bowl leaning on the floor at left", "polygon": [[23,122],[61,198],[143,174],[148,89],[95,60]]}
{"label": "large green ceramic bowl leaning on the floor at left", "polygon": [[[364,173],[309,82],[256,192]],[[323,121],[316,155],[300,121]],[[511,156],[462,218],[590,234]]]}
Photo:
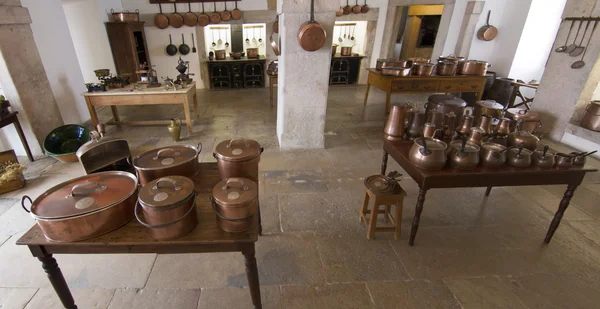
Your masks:
{"label": "large green ceramic bowl leaning on the floor at left", "polygon": [[58,127],[44,139],[44,151],[47,155],[63,162],[77,161],[75,152],[90,140],[90,130],[78,124]]}

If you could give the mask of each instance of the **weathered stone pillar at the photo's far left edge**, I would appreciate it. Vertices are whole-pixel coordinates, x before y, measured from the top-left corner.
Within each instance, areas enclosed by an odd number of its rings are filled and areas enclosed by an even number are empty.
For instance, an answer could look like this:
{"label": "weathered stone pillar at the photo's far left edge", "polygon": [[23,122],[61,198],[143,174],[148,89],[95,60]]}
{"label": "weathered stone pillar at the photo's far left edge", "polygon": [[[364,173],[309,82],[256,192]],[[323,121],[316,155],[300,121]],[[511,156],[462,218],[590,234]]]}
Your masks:
{"label": "weathered stone pillar at the photo's far left edge", "polygon": [[19,0],[2,1],[0,17],[0,85],[12,110],[19,111],[31,151],[41,155],[44,138],[63,120],[33,39],[29,11]]}

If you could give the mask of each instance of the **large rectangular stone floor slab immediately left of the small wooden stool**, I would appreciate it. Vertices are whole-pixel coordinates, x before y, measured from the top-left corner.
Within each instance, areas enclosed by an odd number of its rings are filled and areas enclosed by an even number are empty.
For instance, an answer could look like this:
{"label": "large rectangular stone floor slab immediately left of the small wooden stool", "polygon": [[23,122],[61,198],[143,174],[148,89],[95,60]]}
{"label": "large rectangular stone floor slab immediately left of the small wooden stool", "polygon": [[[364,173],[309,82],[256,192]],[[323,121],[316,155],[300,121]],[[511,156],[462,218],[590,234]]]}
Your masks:
{"label": "large rectangular stone floor slab immediately left of the small wooden stool", "polygon": [[359,207],[344,191],[279,195],[284,232],[356,229]]}

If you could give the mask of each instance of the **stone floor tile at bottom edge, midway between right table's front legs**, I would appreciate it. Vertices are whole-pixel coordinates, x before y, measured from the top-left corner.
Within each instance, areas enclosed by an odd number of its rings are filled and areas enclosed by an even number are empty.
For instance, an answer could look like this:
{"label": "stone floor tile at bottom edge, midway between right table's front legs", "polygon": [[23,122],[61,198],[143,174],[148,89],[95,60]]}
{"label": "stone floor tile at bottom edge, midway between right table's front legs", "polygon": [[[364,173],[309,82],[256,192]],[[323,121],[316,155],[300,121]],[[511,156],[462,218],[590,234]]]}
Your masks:
{"label": "stone floor tile at bottom edge, midway between right table's front legs", "polygon": [[497,277],[444,280],[464,309],[527,309],[507,280]]}

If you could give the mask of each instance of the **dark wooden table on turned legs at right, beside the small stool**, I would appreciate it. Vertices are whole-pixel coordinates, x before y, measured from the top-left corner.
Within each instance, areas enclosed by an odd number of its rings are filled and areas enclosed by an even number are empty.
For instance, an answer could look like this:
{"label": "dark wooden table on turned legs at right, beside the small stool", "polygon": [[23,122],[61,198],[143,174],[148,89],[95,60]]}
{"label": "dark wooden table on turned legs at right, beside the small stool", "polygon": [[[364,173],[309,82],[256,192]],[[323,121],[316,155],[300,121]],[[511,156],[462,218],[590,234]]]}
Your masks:
{"label": "dark wooden table on turned legs at right, beside the small stool", "polygon": [[573,167],[569,169],[540,169],[537,166],[527,168],[514,168],[504,166],[501,169],[489,169],[478,166],[472,171],[461,171],[451,168],[444,168],[439,171],[427,171],[415,167],[408,159],[408,153],[412,146],[412,141],[383,142],[383,158],[381,162],[381,173],[385,174],[387,169],[388,154],[400,164],[410,177],[419,185],[419,197],[413,217],[412,229],[410,231],[409,245],[414,245],[415,236],[419,229],[419,220],[425,203],[425,194],[427,190],[434,188],[467,188],[467,187],[487,187],[485,195],[488,196],[492,187],[502,186],[539,186],[539,185],[558,185],[566,184],[567,190],[563,196],[558,211],[552,219],[548,228],[545,243],[549,243],[552,235],[558,228],[560,220],[569,206],[575,189],[581,184],[586,173],[597,172],[597,169],[585,167]]}

